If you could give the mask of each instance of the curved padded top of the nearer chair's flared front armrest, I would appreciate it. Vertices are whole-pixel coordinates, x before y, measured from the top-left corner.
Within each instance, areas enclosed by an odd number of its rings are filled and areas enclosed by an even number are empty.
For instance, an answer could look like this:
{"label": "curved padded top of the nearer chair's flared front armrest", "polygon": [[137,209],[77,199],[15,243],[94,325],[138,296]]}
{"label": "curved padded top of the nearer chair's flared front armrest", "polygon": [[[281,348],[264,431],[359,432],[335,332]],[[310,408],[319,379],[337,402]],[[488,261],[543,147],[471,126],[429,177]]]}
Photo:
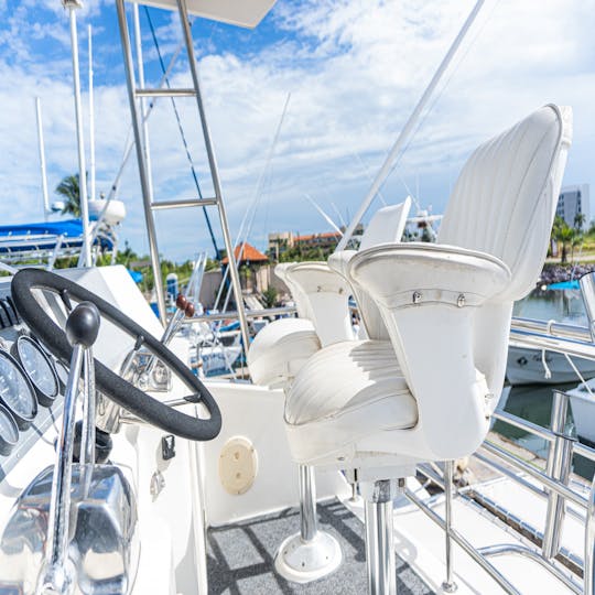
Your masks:
{"label": "curved padded top of the nearer chair's flared front armrest", "polygon": [[383,245],[349,259],[347,278],[386,307],[445,303],[479,306],[510,282],[498,258],[454,246],[410,242]]}

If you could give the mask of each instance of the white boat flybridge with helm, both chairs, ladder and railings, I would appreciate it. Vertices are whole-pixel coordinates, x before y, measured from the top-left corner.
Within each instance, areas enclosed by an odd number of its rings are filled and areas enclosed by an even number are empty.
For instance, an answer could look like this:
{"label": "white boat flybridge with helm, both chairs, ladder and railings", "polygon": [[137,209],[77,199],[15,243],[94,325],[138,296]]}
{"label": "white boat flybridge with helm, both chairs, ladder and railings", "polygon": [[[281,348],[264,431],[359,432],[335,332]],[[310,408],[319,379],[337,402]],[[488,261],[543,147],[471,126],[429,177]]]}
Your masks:
{"label": "white boat flybridge with helm, both chairs, ladder and railings", "polygon": [[[0,594],[593,595],[595,484],[571,467],[595,450],[569,431],[567,396],[549,429],[496,410],[510,333],[595,358],[584,334],[511,329],[545,258],[571,108],[474,151],[436,244],[401,242],[408,199],[357,251],[347,238],[328,262],[279,266],[298,317],[250,344],[187,17],[256,26],[273,2],[150,3],[178,10],[193,80],[137,87],[116,0],[161,321],[121,267],[0,280]],[[196,98],[213,198],[152,196],[139,98],[165,95]],[[153,210],[193,206],[220,217],[251,382],[191,371],[184,295],[166,321]],[[547,441],[545,465],[498,442],[495,420]]]}

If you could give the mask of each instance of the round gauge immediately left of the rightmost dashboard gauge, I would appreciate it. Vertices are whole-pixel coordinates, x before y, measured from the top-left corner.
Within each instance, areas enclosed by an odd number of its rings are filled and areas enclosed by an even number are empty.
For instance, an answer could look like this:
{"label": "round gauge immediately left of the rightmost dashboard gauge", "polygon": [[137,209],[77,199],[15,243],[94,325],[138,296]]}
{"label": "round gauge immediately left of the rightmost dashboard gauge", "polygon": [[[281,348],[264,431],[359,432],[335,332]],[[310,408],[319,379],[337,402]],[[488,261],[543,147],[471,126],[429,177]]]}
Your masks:
{"label": "round gauge immediately left of the rightmost dashboard gauge", "polygon": [[0,351],[0,402],[24,430],[37,413],[37,400],[31,382],[8,353]]}

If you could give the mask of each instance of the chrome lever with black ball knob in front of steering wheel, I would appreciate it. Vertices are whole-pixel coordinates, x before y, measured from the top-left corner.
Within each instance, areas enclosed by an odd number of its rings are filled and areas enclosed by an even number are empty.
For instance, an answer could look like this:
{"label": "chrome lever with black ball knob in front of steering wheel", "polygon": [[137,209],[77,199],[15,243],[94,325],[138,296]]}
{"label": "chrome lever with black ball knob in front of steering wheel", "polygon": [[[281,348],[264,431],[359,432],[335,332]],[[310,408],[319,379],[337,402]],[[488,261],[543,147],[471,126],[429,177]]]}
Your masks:
{"label": "chrome lever with black ball knob in front of steering wheel", "polygon": [[91,302],[78,304],[66,321],[66,336],[73,346],[71,372],[64,396],[64,415],[60,433],[50,499],[50,520],[45,562],[37,581],[39,595],[73,593],[75,570],[67,556],[71,485],[75,440],[76,398],[84,371],[84,422],[82,463],[95,462],[95,376],[91,347],[99,333],[99,312]]}

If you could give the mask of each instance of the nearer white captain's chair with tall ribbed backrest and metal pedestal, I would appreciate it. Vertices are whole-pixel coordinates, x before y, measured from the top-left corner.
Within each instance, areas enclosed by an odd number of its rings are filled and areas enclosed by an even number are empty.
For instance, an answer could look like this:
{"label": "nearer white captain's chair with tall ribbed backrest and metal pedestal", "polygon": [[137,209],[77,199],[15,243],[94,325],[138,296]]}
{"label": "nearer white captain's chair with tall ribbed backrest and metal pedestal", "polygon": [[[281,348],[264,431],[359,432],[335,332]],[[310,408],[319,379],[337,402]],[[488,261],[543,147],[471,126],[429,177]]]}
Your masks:
{"label": "nearer white captain's chair with tall ribbed backrest and metal pedestal", "polygon": [[[309,359],[285,401],[285,423],[299,464],[357,472],[370,593],[396,592],[392,499],[403,479],[416,463],[469,455],[487,434],[512,303],[543,266],[571,137],[570,108],[539,109],[472,154],[436,245],[329,259],[374,303],[363,312],[370,338]],[[448,554],[444,588],[455,588]]]}

